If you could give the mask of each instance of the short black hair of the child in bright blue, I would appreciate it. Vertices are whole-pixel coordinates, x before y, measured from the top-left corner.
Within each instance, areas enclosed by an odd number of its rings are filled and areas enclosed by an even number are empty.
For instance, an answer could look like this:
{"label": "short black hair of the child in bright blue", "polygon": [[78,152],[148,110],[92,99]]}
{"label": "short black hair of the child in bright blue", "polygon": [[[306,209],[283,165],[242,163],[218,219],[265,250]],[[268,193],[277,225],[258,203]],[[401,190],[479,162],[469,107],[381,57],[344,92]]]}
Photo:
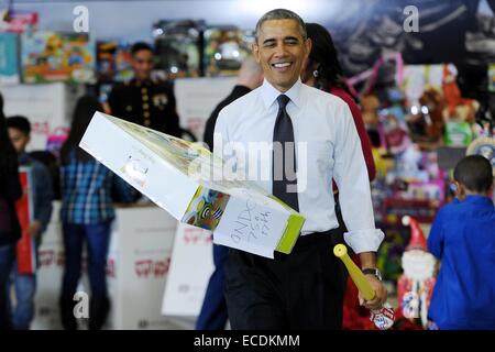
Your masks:
{"label": "short black hair of the child in bright blue", "polygon": [[455,165],[454,179],[471,191],[486,193],[493,185],[492,164],[482,155],[465,156]]}

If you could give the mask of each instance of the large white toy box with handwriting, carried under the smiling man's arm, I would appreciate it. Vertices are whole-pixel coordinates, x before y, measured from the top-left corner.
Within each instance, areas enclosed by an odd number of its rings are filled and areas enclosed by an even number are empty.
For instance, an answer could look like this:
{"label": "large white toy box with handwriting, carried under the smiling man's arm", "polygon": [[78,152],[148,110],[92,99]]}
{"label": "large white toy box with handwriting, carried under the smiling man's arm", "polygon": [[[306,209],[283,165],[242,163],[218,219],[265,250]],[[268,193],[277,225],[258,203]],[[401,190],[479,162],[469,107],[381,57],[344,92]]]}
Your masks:
{"label": "large white toy box with handwriting, carried under the smiling man's arm", "polygon": [[262,188],[204,176],[223,162],[191,142],[96,112],[79,146],[175,219],[212,231],[217,244],[273,258],[292,252],[305,222]]}

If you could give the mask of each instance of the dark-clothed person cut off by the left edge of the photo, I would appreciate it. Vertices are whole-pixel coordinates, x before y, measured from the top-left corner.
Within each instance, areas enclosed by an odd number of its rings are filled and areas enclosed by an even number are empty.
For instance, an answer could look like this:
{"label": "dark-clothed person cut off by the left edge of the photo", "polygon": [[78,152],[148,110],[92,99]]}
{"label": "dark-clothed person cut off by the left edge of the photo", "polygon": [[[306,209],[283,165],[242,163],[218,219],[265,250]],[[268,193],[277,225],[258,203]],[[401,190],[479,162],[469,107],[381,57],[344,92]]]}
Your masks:
{"label": "dark-clothed person cut off by the left edge of the photo", "polygon": [[3,98],[0,95],[0,330],[10,330],[9,276],[15,261],[21,226],[15,200],[22,197],[18,155],[7,133]]}

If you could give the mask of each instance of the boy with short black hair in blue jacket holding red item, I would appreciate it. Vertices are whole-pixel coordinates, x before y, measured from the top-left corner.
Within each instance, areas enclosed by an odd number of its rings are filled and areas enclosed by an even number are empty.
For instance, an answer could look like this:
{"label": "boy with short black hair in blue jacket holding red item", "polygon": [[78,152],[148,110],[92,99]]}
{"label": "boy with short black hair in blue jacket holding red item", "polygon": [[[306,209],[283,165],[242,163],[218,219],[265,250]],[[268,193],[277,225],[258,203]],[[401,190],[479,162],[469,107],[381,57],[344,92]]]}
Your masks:
{"label": "boy with short black hair in blue jacket holding red item", "polygon": [[[33,221],[29,233],[34,239],[36,253],[41,244],[42,234],[52,217],[52,201],[54,198],[52,176],[45,165],[32,158],[25,148],[31,140],[31,123],[25,117],[15,116],[7,119],[10,140],[19,156],[20,166],[29,166],[33,180]],[[15,288],[15,306],[11,307],[12,328],[14,330],[30,329],[34,317],[34,295],[36,290],[36,275],[19,274],[18,265],[12,267],[11,280]],[[12,302],[11,302],[12,304]]]}

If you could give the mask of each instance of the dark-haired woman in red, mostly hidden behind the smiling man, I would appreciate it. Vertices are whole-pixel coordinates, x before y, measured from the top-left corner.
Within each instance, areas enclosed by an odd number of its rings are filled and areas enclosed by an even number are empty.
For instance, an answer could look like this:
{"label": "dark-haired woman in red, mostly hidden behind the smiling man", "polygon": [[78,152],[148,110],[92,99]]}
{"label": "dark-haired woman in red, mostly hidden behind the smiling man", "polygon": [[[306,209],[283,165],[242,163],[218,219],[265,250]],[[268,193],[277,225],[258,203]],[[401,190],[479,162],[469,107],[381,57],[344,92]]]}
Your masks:
{"label": "dark-haired woman in red, mostly hidden behind the smiling man", "polygon": [[[304,65],[301,80],[308,86],[328,91],[346,102],[354,119],[355,128],[361,140],[361,147],[363,148],[364,160],[366,162],[367,175],[370,182],[372,182],[376,175],[372,145],[364,127],[361,110],[344,81],[342,68],[339,63],[339,55],[333,45],[332,36],[322,25],[317,23],[307,23],[306,30],[308,38],[312,42],[312,47],[311,53]],[[333,183],[333,191],[336,195],[336,213],[341,230],[340,235],[334,239],[334,244],[337,244],[343,243],[343,233],[346,232],[346,228],[339,208],[339,190],[336,183]],[[356,255],[353,255],[353,260],[358,265],[360,264]],[[343,266],[342,271],[345,271]],[[346,277],[346,275],[343,277]],[[343,282],[342,285],[346,286],[343,305],[343,329],[370,328],[370,314],[363,307],[360,307],[358,288],[352,283],[352,279],[346,278],[346,282]]]}

